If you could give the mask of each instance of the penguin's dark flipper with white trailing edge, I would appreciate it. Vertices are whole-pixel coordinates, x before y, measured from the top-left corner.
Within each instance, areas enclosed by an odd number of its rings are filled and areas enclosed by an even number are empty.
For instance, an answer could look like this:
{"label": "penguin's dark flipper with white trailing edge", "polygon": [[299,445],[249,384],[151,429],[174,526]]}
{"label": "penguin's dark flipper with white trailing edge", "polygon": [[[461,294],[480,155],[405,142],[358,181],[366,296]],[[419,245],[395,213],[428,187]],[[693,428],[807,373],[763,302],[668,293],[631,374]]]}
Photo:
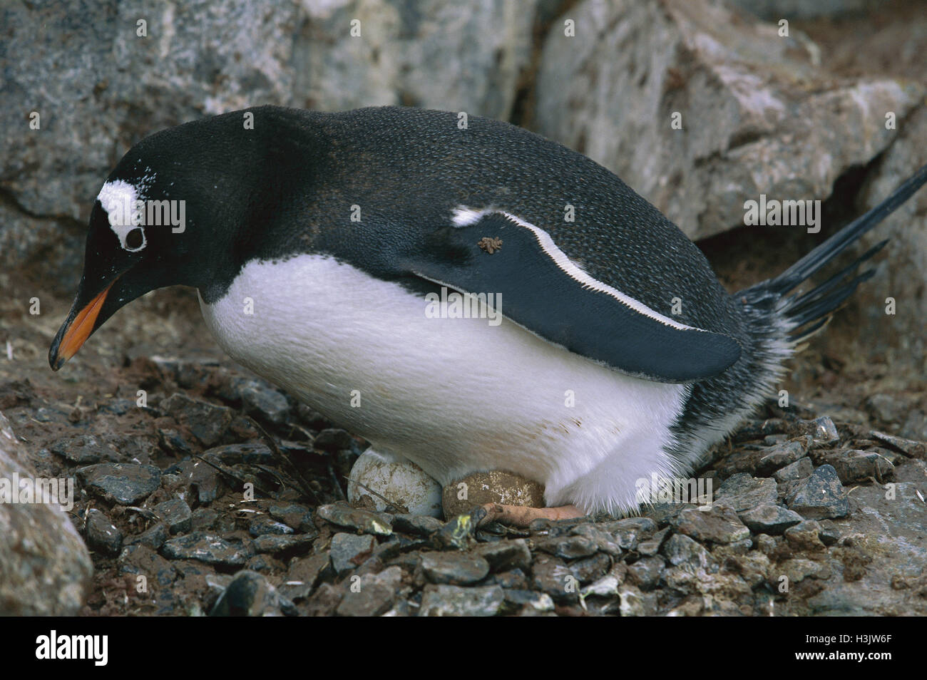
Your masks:
{"label": "penguin's dark flipper with white trailing edge", "polygon": [[717,375],[741,355],[729,336],[667,319],[592,279],[549,234],[501,212],[436,230],[405,268],[461,293],[501,294],[507,319],[636,377],[687,383]]}

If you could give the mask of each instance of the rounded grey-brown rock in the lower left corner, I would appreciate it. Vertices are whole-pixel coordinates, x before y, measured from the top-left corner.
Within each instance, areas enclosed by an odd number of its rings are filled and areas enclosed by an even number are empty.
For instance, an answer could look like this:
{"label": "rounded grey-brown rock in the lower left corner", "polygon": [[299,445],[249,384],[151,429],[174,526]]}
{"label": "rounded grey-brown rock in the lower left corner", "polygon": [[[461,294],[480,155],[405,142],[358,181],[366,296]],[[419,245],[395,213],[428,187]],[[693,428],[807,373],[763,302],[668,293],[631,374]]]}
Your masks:
{"label": "rounded grey-brown rock in the lower left corner", "polygon": [[[0,482],[34,478],[0,413]],[[60,506],[0,503],[0,615],[73,616],[93,573],[90,554]]]}

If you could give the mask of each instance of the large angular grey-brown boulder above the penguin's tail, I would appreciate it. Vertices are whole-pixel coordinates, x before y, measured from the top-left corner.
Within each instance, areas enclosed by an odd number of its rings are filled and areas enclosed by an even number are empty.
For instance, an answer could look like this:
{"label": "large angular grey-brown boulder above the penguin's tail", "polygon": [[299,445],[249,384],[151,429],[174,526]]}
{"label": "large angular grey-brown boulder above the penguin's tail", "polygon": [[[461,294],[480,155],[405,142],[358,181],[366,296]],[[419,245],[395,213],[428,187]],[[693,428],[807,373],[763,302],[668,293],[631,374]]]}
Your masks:
{"label": "large angular grey-brown boulder above the penguin's tail", "polygon": [[576,37],[561,21],[544,41],[539,132],[616,172],[692,238],[743,225],[760,194],[826,198],[891,144],[884,113],[901,120],[922,96],[834,79],[799,31],[783,38],[707,0],[585,0],[569,17]]}

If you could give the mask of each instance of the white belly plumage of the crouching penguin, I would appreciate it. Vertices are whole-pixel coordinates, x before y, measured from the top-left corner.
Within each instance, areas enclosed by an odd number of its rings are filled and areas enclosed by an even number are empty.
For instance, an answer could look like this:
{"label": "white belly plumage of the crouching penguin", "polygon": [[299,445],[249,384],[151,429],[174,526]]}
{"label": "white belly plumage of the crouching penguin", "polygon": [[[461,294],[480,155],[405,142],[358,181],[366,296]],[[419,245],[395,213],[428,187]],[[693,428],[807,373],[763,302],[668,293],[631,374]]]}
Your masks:
{"label": "white belly plumage of the crouching penguin", "polygon": [[233,359],[441,484],[507,470],[546,485],[549,504],[616,511],[637,506],[638,480],[672,472],[663,449],[683,385],[630,378],[508,320],[428,318],[422,296],[334,258],[250,262],[200,306]]}

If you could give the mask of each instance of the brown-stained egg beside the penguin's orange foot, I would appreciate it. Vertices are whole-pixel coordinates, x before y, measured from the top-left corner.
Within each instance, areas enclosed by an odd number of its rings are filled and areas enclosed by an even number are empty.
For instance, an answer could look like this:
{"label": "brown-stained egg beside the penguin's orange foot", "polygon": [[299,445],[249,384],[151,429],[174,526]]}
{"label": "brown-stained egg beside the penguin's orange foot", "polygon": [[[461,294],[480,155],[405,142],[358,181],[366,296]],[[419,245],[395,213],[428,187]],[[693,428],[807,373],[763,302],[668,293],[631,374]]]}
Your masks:
{"label": "brown-stained egg beside the penguin's orange foot", "polygon": [[476,472],[444,486],[441,503],[447,518],[487,503],[543,508],[544,487],[512,472]]}

